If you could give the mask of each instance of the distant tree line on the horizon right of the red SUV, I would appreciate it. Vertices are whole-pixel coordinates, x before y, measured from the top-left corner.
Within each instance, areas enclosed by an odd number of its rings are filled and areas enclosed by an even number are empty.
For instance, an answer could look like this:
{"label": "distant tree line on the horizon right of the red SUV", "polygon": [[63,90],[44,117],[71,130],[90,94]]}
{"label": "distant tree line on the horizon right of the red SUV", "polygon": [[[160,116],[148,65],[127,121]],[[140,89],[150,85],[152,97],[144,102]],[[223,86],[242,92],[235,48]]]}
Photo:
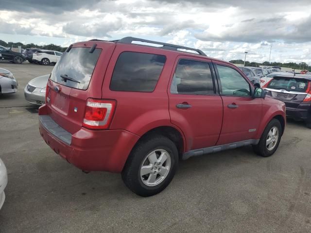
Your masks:
{"label": "distant tree line on the horizon right of the red SUV", "polygon": [[[231,60],[229,62],[232,64],[244,64],[243,60]],[[245,67],[259,67],[259,66],[288,67],[288,68],[292,68],[292,69],[307,69],[307,70],[311,71],[311,67],[309,67],[308,64],[305,62],[301,62],[301,63],[294,63],[294,62],[289,62],[289,63],[281,63],[281,62],[257,63],[257,62],[245,61]]]}

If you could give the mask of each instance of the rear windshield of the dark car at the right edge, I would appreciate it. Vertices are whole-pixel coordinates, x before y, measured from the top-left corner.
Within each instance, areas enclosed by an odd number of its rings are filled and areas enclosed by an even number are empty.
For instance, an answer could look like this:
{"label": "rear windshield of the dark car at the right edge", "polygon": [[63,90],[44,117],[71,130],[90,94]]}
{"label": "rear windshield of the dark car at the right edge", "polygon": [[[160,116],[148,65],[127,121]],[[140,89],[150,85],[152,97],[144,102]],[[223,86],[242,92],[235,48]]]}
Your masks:
{"label": "rear windshield of the dark car at the right edge", "polygon": [[283,89],[287,91],[306,92],[308,81],[304,79],[289,79],[276,77],[267,86],[272,89]]}

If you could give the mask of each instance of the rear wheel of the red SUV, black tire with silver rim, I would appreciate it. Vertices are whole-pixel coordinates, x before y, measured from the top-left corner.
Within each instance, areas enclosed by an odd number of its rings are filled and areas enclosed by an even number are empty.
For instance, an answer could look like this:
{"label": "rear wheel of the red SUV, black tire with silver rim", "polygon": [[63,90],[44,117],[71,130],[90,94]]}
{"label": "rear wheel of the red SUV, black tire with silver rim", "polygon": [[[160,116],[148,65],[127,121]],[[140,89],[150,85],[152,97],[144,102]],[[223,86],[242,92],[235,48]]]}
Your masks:
{"label": "rear wheel of the red SUV, black tire with silver rim", "polygon": [[167,137],[150,135],[130,153],[122,180],[134,193],[149,197],[161,192],[173,180],[178,167],[178,150]]}

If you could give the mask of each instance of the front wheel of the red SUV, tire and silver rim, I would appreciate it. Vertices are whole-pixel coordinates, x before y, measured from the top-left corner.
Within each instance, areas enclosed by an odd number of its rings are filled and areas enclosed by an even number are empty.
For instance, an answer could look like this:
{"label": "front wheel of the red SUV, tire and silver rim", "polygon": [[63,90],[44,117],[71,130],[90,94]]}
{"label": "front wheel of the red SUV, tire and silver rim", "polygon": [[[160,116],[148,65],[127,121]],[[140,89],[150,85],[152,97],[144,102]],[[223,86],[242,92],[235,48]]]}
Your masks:
{"label": "front wheel of the red SUV, tire and silver rim", "polygon": [[281,123],[277,119],[272,119],[263,131],[259,140],[259,144],[253,146],[255,153],[262,157],[269,157],[273,155],[278,148],[281,135]]}

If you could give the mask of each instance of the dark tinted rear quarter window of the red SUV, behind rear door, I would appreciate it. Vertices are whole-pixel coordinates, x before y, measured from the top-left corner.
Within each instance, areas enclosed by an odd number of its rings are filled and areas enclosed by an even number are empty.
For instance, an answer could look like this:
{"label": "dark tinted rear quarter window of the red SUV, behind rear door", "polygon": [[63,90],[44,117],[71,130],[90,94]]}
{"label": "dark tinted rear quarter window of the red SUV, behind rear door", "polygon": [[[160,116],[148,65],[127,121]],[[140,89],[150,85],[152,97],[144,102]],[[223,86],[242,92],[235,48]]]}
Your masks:
{"label": "dark tinted rear quarter window of the red SUV, behind rear door", "polygon": [[110,90],[153,92],[165,61],[164,55],[122,52],[112,74]]}

